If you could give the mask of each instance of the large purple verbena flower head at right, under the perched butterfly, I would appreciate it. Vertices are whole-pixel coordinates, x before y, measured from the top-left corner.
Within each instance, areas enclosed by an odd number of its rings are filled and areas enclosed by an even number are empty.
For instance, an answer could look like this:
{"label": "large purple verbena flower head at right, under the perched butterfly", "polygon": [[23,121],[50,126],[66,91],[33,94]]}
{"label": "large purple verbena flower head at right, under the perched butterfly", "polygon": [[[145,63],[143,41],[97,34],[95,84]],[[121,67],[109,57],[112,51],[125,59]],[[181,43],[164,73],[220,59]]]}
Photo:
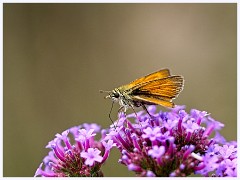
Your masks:
{"label": "large purple verbena flower head at right, under the perched butterfly", "polygon": [[119,162],[138,176],[236,176],[236,143],[220,145],[226,144],[219,133],[224,125],[205,111],[184,109],[156,112],[149,106],[151,117],[144,111],[120,115],[105,139],[117,144]]}

